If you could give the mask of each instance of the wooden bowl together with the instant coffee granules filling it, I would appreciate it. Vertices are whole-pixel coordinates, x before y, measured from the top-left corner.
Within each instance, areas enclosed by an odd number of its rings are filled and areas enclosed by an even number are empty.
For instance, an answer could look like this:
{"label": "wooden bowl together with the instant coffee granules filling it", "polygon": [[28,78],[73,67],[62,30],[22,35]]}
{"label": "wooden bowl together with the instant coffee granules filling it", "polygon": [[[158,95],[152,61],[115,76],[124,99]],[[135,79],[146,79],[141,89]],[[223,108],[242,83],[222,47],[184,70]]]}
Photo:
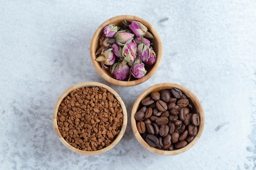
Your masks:
{"label": "wooden bowl together with the instant coffee granules filling it", "polygon": [[109,86],[83,82],[68,88],[56,102],[54,130],[70,150],[97,155],[123,137],[127,112],[121,97]]}

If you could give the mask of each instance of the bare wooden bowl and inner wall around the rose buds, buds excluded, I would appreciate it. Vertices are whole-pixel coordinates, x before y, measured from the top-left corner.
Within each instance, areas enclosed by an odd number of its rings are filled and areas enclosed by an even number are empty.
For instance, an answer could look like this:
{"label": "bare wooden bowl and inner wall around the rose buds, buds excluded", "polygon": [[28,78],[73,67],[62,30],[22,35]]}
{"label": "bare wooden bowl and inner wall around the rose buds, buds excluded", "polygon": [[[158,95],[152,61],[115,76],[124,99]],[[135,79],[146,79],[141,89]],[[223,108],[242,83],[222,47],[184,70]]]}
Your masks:
{"label": "bare wooden bowl and inner wall around the rose buds, buds excluded", "polygon": [[[101,64],[99,62],[95,61],[95,59],[97,57],[95,55],[95,53],[97,52],[97,50],[100,47],[99,39],[103,35],[104,27],[107,26],[108,24],[115,24],[116,26],[121,26],[123,24],[124,20],[127,20],[128,22],[132,22],[134,20],[141,22],[148,28],[148,31],[150,33],[152,33],[155,37],[154,39],[149,39],[150,42],[153,43],[151,46],[152,46],[153,50],[155,51],[156,58],[157,58],[155,65],[153,67],[146,68],[147,73],[144,77],[142,77],[140,79],[136,79],[133,77],[132,79],[130,79],[130,81],[121,81],[121,80],[115,79],[115,77],[110,73],[109,70],[103,69],[101,67]],[[146,20],[139,18],[137,16],[132,16],[132,15],[119,15],[119,16],[110,18],[109,20],[106,20],[105,22],[103,22],[103,24],[101,24],[99,26],[99,28],[95,31],[95,33],[92,37],[91,45],[90,45],[90,56],[91,56],[92,64],[93,64],[95,70],[107,82],[110,82],[111,84],[115,84],[117,86],[135,86],[135,85],[141,84],[141,83],[145,82],[146,80],[148,80],[157,71],[157,69],[159,67],[159,64],[162,60],[162,51],[163,51],[162,50],[162,42],[161,42],[161,39],[160,39],[157,31],[154,29],[154,27],[150,23],[148,23]]]}

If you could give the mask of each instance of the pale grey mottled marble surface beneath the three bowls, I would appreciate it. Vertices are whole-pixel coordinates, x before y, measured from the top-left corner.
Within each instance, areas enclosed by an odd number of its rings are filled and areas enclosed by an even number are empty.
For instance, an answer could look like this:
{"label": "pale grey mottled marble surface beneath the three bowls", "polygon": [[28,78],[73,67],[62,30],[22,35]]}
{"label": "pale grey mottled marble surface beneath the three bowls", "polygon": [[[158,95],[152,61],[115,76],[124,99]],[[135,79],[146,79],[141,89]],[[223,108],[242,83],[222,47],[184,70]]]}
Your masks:
{"label": "pale grey mottled marble surface beneath the three bowls", "polygon": [[[119,87],[103,80],[90,60],[97,27],[116,15],[150,22],[163,44],[163,60],[143,84]],[[85,156],[56,136],[58,97],[86,81],[119,93],[128,127],[106,153]],[[202,102],[204,131],[176,156],[155,155],[136,140],[130,112],[149,86],[173,82]],[[1,170],[255,170],[256,1],[0,0]]]}

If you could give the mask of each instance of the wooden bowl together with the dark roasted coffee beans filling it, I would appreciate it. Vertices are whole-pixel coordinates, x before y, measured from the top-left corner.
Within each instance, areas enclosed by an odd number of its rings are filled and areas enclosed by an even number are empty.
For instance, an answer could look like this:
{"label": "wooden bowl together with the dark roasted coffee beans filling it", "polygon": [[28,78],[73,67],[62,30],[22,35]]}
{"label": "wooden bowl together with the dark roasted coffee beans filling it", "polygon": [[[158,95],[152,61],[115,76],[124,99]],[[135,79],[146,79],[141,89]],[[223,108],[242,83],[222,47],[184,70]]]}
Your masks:
{"label": "wooden bowl together with the dark roasted coffee beans filling it", "polygon": [[132,131],[139,143],[159,155],[189,150],[204,129],[204,110],[198,98],[179,84],[150,86],[136,99]]}

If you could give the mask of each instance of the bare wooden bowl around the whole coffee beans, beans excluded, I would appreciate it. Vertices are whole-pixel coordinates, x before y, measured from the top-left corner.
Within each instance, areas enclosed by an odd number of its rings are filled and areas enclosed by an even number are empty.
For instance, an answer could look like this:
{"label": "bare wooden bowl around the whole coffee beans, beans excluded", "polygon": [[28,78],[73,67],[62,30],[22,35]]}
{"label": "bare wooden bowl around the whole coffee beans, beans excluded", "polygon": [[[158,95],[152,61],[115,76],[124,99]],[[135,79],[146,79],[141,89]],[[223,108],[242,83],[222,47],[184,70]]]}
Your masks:
{"label": "bare wooden bowl around the whole coffee beans, beans excluded", "polygon": [[[184,148],[180,149],[174,149],[174,150],[161,150],[154,148],[152,146],[149,146],[146,141],[141,137],[141,134],[137,130],[136,126],[136,120],[135,120],[135,113],[137,112],[138,108],[141,106],[141,100],[150,95],[151,92],[153,91],[162,91],[164,89],[171,89],[171,88],[178,88],[180,89],[189,99],[189,102],[194,105],[194,111],[195,113],[198,113],[200,116],[200,125],[198,127],[198,133],[195,135],[194,139],[188,143]],[[182,152],[185,152],[186,150],[189,150],[192,146],[195,145],[195,143],[198,141],[200,136],[202,135],[203,129],[204,129],[204,110],[202,108],[202,105],[198,98],[187,88],[184,86],[181,86],[179,84],[173,84],[173,83],[161,83],[161,84],[156,84],[154,86],[150,86],[147,88],[145,91],[143,91],[139,97],[136,99],[133,107],[132,107],[132,113],[131,113],[131,125],[132,125],[132,131],[136,137],[136,139],[139,141],[139,143],[149,150],[150,152],[159,154],[159,155],[177,155]]]}

